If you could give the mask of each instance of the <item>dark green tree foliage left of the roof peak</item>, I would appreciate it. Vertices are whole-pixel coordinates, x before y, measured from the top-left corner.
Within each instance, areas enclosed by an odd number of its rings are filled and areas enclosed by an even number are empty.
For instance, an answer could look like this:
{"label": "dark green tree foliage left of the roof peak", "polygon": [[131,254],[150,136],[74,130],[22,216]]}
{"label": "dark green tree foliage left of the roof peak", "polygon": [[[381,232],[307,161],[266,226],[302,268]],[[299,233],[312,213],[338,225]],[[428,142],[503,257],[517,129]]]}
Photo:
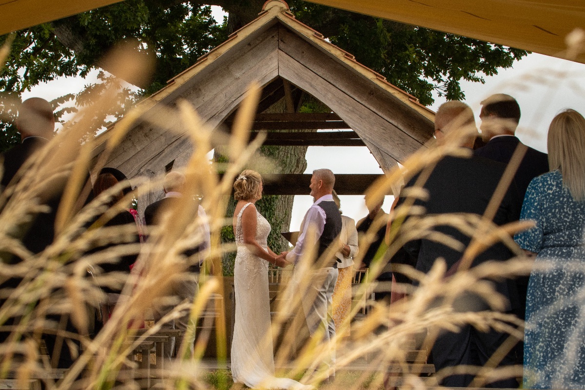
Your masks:
{"label": "dark green tree foliage left of the roof peak", "polygon": [[[138,98],[163,88],[167,80],[223,42],[225,25],[216,23],[211,8],[199,3],[127,0],[16,33],[8,63],[0,71],[0,151],[19,140],[13,125],[15,105],[30,87],[61,76],[87,75],[122,40],[133,40],[138,50],[155,53],[156,70],[150,84],[138,91],[119,88],[112,110],[95,117],[97,131],[108,125],[109,115],[119,118]],[[0,43],[7,37],[0,37]],[[97,84],[88,85],[77,96],[64,96],[53,106],[72,98],[80,106],[89,105],[112,82],[108,73],[101,72]],[[58,119],[63,113],[57,113]]]}

